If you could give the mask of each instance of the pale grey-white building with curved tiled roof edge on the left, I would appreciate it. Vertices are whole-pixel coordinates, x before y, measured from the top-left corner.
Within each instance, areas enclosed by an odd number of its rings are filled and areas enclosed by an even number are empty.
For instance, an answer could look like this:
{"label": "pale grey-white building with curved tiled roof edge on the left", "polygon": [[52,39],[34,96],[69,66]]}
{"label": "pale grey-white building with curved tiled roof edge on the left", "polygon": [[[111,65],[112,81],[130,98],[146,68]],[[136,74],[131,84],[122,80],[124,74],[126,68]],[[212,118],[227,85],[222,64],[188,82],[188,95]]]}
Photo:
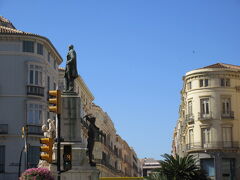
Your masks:
{"label": "pale grey-white building with curved tiled roof edge on the left", "polygon": [[47,92],[58,85],[62,58],[45,37],[17,30],[0,17],[0,179],[17,179],[26,168],[22,127],[28,127],[28,167],[39,160],[41,125],[54,118]]}

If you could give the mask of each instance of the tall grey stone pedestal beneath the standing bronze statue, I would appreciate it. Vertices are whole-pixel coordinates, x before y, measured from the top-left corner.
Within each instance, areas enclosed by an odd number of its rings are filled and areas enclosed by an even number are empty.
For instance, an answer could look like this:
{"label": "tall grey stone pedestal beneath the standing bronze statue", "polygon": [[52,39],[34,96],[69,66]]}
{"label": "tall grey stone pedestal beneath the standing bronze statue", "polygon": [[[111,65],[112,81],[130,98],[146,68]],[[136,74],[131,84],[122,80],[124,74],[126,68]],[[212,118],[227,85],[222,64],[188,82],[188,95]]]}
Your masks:
{"label": "tall grey stone pedestal beneath the standing bronze statue", "polygon": [[[89,164],[87,148],[81,139],[81,99],[76,93],[63,93],[61,118],[61,169],[64,169],[65,147],[71,147],[71,169],[61,173],[61,180],[98,180],[99,170]],[[54,156],[56,157],[56,143]],[[50,166],[50,170],[57,178],[57,168]]]}

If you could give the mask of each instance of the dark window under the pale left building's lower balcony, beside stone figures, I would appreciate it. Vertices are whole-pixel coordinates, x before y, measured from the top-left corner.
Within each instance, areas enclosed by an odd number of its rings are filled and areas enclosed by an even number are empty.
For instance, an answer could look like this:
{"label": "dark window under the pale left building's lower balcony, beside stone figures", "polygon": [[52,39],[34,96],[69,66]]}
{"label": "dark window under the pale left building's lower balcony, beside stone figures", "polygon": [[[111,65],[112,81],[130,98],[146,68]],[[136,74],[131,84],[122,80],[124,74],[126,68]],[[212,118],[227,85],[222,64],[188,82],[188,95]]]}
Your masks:
{"label": "dark window under the pale left building's lower balcony, beside stone figures", "polygon": [[37,167],[39,161],[39,146],[30,146],[28,149],[29,168]]}

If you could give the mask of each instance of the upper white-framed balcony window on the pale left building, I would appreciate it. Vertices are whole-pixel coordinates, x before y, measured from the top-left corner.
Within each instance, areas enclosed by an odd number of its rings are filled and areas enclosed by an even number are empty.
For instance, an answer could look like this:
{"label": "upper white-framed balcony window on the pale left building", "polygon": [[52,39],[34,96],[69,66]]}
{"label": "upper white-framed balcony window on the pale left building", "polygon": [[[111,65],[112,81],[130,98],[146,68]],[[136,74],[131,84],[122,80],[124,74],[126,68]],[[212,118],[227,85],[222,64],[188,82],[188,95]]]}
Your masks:
{"label": "upper white-framed balcony window on the pale left building", "polygon": [[43,68],[39,65],[29,65],[28,83],[35,86],[43,86]]}

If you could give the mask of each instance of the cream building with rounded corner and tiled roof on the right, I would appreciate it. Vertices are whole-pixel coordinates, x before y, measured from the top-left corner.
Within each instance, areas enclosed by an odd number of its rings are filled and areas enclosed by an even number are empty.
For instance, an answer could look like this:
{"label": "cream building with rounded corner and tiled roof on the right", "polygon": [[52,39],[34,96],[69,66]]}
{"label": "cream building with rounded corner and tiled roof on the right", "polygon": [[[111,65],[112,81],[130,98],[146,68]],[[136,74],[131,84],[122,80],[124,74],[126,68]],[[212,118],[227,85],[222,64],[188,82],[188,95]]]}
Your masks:
{"label": "cream building with rounded corner and tiled roof on the right", "polygon": [[173,154],[193,154],[211,179],[240,179],[240,66],[217,63],[183,77]]}

